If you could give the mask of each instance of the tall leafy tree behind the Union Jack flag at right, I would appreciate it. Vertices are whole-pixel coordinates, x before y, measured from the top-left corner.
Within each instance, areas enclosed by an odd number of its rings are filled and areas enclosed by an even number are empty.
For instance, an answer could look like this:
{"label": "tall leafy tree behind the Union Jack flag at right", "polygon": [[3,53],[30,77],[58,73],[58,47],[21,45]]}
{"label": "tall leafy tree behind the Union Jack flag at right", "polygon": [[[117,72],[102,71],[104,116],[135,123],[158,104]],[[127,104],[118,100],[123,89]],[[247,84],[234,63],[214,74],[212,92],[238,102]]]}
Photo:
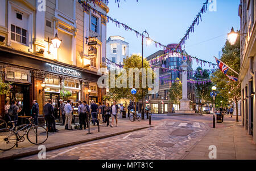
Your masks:
{"label": "tall leafy tree behind the Union Jack flag at right", "polygon": [[[240,72],[240,37],[238,36],[235,45],[230,45],[226,41],[224,48],[222,48],[221,61],[226,63],[233,70]],[[234,75],[234,72],[229,70],[228,75]],[[234,75],[237,76],[237,75]],[[217,91],[222,97],[231,99],[236,103],[236,122],[238,122],[238,101],[241,99],[241,83],[230,80],[224,75],[221,70],[217,70],[212,75],[212,82],[216,85]],[[218,96],[218,95],[217,95]]]}

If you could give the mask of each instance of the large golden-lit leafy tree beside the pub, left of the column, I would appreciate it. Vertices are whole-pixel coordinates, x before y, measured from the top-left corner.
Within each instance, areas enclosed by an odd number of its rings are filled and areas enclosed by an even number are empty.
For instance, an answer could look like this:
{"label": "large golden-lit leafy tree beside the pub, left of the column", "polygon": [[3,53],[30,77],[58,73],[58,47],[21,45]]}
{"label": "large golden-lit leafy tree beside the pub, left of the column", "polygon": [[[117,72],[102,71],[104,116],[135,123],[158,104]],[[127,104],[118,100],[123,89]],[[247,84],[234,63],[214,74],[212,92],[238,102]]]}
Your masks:
{"label": "large golden-lit leafy tree beside the pub, left of the column", "polygon": [[[146,69],[151,69],[149,63],[146,61],[146,59],[143,59],[143,68]],[[129,88],[129,69],[142,69],[142,57],[140,55],[131,55],[130,57],[127,57],[126,59],[123,59],[123,69],[126,71],[127,75],[126,75],[126,82],[127,82],[127,88],[110,88],[109,89],[109,96],[112,97],[114,100],[118,100],[121,98],[127,98],[130,100],[134,100],[134,109],[136,109],[136,102],[138,102],[139,99],[142,99],[142,91],[144,93],[144,96],[146,96],[148,94],[148,84],[146,85],[146,88],[142,88],[142,73],[139,73],[139,88],[137,89],[137,93],[135,95],[131,94],[131,89]],[[152,69],[151,69],[152,71]],[[133,73],[133,80],[135,80],[135,74]],[[109,80],[111,75],[109,76]],[[123,73],[119,73],[116,77],[115,77],[115,81],[117,81],[118,79],[121,79],[121,83],[123,83]],[[147,80],[147,74],[146,74],[146,80]],[[154,82],[154,72],[152,71],[152,80]],[[135,87],[135,81],[133,81],[133,87]],[[136,112],[136,110],[135,110]]]}

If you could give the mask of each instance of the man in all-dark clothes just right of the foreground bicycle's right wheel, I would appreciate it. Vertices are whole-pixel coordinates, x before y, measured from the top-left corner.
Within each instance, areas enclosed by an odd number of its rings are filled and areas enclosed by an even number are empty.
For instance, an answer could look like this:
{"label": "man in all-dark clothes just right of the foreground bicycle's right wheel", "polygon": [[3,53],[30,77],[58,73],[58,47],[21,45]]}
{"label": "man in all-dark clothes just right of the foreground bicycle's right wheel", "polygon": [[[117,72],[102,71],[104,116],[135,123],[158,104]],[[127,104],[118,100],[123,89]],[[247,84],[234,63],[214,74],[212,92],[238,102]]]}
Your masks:
{"label": "man in all-dark clothes just right of the foreground bicycle's right wheel", "polygon": [[56,129],[55,117],[53,116],[53,106],[52,100],[48,99],[47,103],[44,105],[43,113],[44,119],[46,119],[46,127],[48,132],[59,132]]}

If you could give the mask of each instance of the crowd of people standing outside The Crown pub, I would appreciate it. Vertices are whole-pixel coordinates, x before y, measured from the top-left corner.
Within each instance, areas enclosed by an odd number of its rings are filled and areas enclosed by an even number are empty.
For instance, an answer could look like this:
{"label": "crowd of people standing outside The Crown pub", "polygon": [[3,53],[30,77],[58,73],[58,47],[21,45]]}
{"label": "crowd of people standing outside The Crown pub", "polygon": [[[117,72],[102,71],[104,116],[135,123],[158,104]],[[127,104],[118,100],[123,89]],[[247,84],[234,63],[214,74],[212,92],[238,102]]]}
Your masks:
{"label": "crowd of people standing outside The Crown pub", "polygon": [[[67,100],[67,103],[64,103],[63,100],[59,100],[60,102],[60,113],[62,116],[62,123],[65,126],[65,129],[72,130],[72,113],[73,108],[71,105],[71,100]],[[39,116],[39,105],[36,100],[32,101],[31,108],[31,117],[34,120],[34,124],[38,125],[38,116]],[[132,106],[128,106],[128,110],[133,109]],[[11,105],[9,101],[5,101],[5,120],[15,121],[15,126],[18,125],[18,113],[20,112],[20,108],[17,105],[17,101],[12,101]],[[106,126],[114,127],[118,126],[118,112],[121,113],[125,111],[125,107],[121,104],[120,107],[117,105],[117,101],[113,101],[113,105],[109,105],[109,103],[99,102],[96,104],[93,100],[90,102],[90,105],[87,104],[86,101],[78,101],[78,113],[79,113],[79,129],[86,129],[90,122],[94,126],[102,125],[106,123]],[[55,117],[53,116],[53,105],[52,100],[48,99],[46,104],[43,106],[43,114],[44,119],[46,121],[47,131],[49,132],[58,132],[56,129]],[[110,118],[112,121],[110,123]]]}

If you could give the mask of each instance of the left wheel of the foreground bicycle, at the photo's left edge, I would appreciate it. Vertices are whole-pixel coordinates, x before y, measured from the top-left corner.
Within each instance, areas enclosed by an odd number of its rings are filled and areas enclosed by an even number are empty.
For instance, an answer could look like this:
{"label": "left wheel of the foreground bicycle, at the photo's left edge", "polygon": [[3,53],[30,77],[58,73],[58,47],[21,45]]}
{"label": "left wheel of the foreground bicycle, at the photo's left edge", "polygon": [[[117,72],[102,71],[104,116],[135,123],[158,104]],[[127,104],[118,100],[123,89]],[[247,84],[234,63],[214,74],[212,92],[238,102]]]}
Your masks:
{"label": "left wheel of the foreground bicycle, at the photo's left edge", "polygon": [[18,143],[18,137],[13,130],[0,130],[0,150],[6,151],[13,148]]}

